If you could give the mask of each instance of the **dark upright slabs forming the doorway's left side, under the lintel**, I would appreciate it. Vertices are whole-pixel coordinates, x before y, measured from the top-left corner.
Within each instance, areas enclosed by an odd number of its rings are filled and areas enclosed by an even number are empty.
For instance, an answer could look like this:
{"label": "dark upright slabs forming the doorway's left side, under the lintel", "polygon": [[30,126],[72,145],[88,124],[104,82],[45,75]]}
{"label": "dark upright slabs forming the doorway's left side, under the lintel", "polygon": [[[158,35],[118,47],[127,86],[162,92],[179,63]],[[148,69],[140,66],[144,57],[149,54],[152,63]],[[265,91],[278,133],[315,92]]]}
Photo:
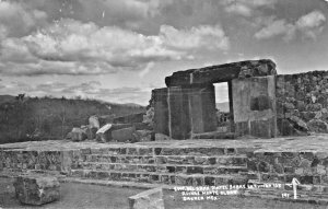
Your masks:
{"label": "dark upright slabs forming the doorway's left side, under the lintel", "polygon": [[154,130],[173,139],[216,129],[214,85],[153,90]]}

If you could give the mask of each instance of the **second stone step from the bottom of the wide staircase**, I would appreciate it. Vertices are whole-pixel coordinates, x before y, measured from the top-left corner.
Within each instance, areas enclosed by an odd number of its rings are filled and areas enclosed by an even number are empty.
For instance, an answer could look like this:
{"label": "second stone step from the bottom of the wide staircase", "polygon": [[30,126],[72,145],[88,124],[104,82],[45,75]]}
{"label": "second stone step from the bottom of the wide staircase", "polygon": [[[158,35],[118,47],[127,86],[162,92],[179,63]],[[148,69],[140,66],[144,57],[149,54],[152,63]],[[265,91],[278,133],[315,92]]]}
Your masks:
{"label": "second stone step from the bottom of the wide staircase", "polygon": [[247,173],[246,166],[211,166],[211,165],[185,165],[185,164],[132,164],[132,163],[80,163],[73,169],[103,170],[103,171],[138,171],[162,172],[181,174],[238,174]]}

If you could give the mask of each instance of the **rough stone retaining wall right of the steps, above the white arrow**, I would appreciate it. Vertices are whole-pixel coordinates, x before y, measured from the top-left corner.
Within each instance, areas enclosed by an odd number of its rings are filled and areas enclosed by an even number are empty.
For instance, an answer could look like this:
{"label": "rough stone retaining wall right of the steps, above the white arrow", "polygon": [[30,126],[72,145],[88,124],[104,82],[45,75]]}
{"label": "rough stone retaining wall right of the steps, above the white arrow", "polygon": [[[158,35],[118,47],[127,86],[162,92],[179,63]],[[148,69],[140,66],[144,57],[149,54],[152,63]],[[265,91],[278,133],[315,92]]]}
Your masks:
{"label": "rough stone retaining wall right of the steps, above the white arrow", "polygon": [[328,153],[326,152],[263,152],[248,153],[247,170],[260,182],[328,185]]}

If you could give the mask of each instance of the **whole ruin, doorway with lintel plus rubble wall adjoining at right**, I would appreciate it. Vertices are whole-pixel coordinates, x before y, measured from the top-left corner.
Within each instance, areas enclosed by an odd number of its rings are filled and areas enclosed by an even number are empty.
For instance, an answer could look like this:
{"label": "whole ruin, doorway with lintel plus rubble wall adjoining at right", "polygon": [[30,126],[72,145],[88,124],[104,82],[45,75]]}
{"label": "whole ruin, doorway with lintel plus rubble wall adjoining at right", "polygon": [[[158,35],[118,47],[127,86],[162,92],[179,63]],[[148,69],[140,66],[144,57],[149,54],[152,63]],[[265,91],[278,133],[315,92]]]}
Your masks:
{"label": "whole ruin, doorway with lintel plus rubble wall adjoining at right", "polygon": [[[152,91],[154,131],[173,139],[215,132],[213,83],[227,82],[235,137],[328,132],[328,72],[277,74],[269,59],[174,72]],[[213,135],[212,135],[213,136]]]}

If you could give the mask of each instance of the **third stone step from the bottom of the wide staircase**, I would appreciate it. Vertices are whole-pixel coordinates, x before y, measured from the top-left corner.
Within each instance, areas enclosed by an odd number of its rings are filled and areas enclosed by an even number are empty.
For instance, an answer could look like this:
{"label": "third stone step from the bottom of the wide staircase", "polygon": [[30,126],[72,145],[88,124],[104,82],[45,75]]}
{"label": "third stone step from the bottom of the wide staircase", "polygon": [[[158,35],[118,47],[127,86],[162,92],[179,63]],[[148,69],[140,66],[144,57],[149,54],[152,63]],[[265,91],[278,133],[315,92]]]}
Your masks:
{"label": "third stone step from the bottom of the wide staircase", "polygon": [[147,163],[147,164],[191,164],[191,165],[237,165],[246,166],[247,156],[239,155],[213,155],[213,156],[190,156],[190,155],[113,155],[113,154],[89,154],[85,162],[107,163]]}

